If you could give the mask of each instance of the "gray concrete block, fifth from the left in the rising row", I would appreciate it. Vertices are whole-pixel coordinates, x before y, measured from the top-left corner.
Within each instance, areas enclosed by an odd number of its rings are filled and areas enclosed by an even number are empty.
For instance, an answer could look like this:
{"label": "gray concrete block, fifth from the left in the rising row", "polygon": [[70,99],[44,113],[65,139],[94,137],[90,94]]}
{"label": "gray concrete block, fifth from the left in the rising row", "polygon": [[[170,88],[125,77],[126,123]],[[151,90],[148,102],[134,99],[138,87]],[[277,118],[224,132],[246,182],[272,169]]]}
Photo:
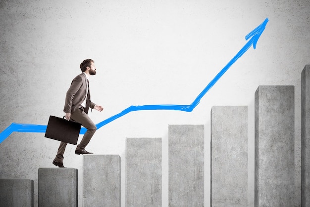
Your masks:
{"label": "gray concrete block, fifth from the left in the rising row", "polygon": [[204,125],[168,126],[168,205],[204,206]]}

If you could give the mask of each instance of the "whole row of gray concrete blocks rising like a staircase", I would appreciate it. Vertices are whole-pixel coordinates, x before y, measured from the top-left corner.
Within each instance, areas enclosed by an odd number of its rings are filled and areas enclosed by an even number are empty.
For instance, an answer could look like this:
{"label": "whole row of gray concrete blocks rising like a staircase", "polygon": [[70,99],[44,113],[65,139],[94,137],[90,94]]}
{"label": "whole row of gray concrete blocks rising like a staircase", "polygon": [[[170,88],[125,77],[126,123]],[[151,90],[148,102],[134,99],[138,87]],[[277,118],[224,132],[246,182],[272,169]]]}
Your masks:
{"label": "whole row of gray concrete blocks rising like a staircase", "polygon": [[[310,65],[302,71],[302,207],[310,206]],[[255,206],[294,206],[294,86],[255,92]],[[248,206],[248,106],[210,110],[210,206]],[[168,206],[203,207],[205,126],[168,125]],[[83,207],[120,207],[119,155],[83,155]],[[126,138],[126,207],[162,206],[160,137]],[[33,180],[0,179],[0,207],[77,207],[78,170],[39,168]]]}

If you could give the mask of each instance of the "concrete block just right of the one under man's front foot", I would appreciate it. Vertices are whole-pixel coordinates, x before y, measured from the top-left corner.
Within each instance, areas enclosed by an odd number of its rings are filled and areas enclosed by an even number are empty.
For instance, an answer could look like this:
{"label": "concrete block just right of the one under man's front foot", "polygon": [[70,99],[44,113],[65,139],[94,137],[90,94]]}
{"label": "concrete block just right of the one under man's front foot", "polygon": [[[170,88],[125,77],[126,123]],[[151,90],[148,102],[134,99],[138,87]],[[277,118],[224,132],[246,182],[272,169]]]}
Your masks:
{"label": "concrete block just right of the one under man's front foot", "polygon": [[126,207],[161,207],[161,138],[126,139]]}

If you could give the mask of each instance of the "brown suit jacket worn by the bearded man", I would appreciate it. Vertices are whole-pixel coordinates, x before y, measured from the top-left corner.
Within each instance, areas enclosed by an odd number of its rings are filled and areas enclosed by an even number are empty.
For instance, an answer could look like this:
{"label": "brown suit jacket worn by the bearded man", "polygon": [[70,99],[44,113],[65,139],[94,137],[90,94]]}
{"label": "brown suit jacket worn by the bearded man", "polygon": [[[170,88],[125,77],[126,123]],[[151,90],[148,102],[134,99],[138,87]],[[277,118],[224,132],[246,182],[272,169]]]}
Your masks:
{"label": "brown suit jacket worn by the bearded man", "polygon": [[[70,85],[70,88],[67,91],[65,104],[63,111],[65,113],[73,113],[75,110],[79,108],[81,103],[83,103],[86,98],[86,86],[87,78],[84,73],[81,73],[77,77],[75,77]],[[91,100],[86,100],[86,105],[89,104],[90,108],[95,107],[95,103],[91,102]],[[85,110],[87,113],[88,110]]]}

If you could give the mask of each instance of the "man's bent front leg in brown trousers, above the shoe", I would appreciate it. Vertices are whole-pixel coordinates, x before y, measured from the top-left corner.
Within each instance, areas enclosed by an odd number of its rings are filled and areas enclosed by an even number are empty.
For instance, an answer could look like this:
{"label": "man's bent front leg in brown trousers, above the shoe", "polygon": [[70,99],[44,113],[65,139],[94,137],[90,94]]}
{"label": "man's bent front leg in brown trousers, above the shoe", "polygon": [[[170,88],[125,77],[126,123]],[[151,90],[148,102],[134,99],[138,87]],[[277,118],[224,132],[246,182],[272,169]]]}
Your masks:
{"label": "man's bent front leg in brown trousers, above the shoe", "polygon": [[71,114],[71,119],[75,122],[81,123],[87,129],[82,138],[82,141],[76,147],[76,150],[83,151],[96,132],[97,126],[82,109],[77,109],[75,112],[73,112]]}

